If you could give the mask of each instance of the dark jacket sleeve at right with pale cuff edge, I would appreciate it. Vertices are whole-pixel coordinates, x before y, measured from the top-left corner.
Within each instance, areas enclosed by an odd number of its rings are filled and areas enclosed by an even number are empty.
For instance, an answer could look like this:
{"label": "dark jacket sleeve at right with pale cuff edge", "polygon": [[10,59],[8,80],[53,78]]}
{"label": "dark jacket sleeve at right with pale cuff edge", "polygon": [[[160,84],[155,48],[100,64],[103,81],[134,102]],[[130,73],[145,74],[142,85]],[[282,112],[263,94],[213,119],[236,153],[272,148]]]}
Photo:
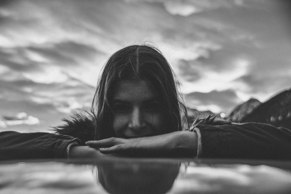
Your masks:
{"label": "dark jacket sleeve at right with pale cuff edge", "polygon": [[[269,124],[198,125],[198,157],[291,159],[291,131]],[[199,150],[200,149],[200,150]]]}

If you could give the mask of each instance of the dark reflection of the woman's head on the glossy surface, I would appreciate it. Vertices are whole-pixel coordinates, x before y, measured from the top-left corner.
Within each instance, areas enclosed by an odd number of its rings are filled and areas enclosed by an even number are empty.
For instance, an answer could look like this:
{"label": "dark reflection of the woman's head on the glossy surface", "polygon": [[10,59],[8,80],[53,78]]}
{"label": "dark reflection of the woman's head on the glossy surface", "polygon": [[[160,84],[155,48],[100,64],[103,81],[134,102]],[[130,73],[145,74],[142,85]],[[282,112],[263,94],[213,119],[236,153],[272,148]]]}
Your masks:
{"label": "dark reflection of the woman's head on the glossy surface", "polygon": [[97,165],[97,176],[109,193],[166,193],[180,169],[179,163],[121,162]]}

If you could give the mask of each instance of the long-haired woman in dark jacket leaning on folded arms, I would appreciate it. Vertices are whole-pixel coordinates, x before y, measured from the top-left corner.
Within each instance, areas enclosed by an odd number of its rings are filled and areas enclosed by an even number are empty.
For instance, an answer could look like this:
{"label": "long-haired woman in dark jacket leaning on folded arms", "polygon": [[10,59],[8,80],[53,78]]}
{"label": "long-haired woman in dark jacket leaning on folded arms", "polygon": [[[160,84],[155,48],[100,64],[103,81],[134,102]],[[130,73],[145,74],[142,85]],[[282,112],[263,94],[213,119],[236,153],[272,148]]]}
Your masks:
{"label": "long-haired woman in dark jacket leaning on folded arms", "polygon": [[[146,45],[125,47],[108,59],[91,112],[65,120],[66,125],[55,128],[58,135],[0,133],[0,155],[2,159],[100,157],[109,153],[291,159],[288,129],[214,118],[197,120],[189,127],[170,65],[160,51]],[[15,154],[16,150],[21,151]]]}

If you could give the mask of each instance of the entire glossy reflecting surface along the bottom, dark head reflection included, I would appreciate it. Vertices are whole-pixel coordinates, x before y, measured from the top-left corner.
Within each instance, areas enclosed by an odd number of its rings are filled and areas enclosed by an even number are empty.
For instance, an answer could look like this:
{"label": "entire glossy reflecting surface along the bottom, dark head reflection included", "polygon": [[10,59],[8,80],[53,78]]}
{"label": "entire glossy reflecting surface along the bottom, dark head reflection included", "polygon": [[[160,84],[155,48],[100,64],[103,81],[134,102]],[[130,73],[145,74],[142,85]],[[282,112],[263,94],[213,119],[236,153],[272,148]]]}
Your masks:
{"label": "entire glossy reflecting surface along the bottom, dark head reflection included", "polygon": [[0,193],[291,193],[291,161],[272,162],[276,167],[251,163],[129,158],[6,162],[0,164]]}

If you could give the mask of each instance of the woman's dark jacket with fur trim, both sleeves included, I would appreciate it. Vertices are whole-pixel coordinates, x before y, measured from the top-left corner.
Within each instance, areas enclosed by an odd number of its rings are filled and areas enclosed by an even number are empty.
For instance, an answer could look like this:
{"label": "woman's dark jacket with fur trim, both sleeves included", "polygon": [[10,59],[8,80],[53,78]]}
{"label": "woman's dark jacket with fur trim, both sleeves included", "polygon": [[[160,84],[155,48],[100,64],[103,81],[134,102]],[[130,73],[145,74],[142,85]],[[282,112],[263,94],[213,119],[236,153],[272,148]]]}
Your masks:
{"label": "woman's dark jacket with fur trim, both sleeves included", "polygon": [[[0,132],[0,159],[66,158],[68,145],[93,140],[92,115],[75,114],[52,133]],[[232,123],[213,117],[196,120],[198,157],[231,159],[291,159],[291,131],[262,123]]]}

